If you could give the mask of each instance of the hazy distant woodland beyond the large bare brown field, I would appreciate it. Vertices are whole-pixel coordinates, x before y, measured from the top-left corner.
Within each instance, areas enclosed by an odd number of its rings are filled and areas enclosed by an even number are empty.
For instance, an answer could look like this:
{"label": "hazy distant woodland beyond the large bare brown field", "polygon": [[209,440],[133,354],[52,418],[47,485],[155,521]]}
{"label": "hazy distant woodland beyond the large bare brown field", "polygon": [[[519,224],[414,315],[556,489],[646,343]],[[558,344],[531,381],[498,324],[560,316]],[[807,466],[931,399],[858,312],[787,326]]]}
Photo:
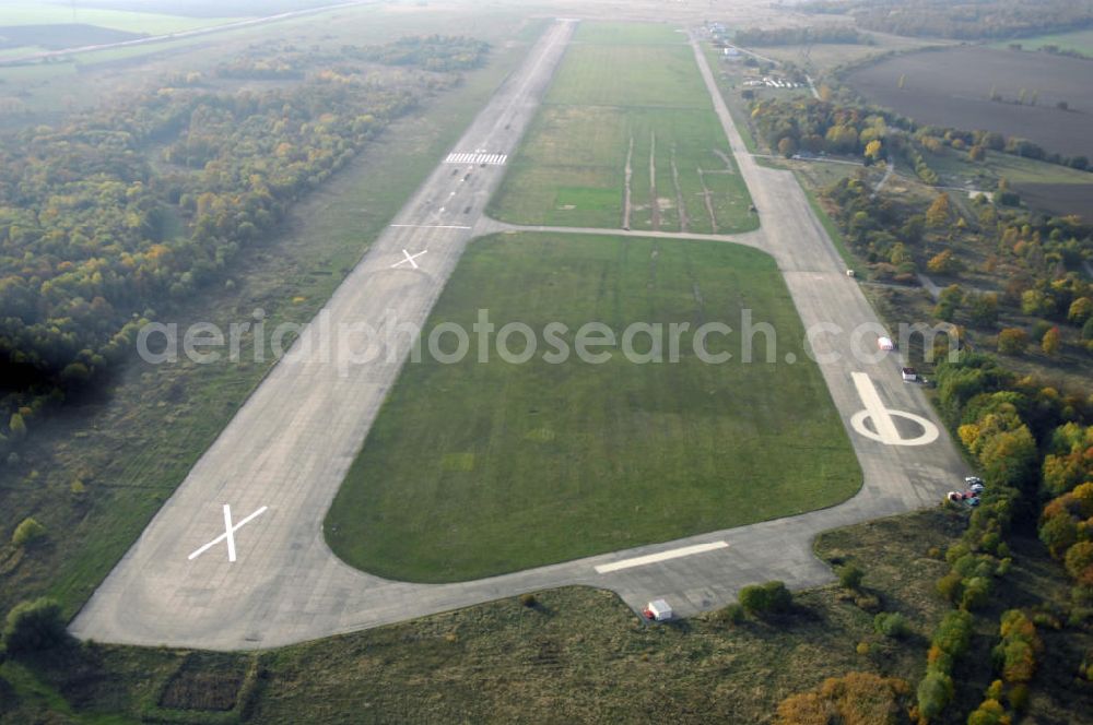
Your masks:
{"label": "hazy distant woodland beyond the large bare brown field", "polygon": [[1091,0],[819,0],[801,10],[849,14],[867,31],[960,40],[1016,38],[1093,25]]}

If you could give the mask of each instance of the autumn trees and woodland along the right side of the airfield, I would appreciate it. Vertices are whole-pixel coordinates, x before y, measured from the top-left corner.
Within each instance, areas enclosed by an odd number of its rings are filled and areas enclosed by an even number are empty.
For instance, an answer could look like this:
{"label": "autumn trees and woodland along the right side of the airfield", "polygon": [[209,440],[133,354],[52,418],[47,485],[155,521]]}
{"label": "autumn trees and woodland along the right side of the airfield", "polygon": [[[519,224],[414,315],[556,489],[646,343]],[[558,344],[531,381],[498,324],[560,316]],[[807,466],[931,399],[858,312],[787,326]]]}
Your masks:
{"label": "autumn trees and woodland along the right side of the airfield", "polygon": [[[1020,153],[1020,140],[916,128],[833,102],[762,102],[753,105],[753,118],[786,155],[799,146],[862,154],[871,164],[891,154],[927,183],[930,181],[922,150],[959,151],[973,164],[988,153]],[[1079,272],[1093,257],[1093,228],[1077,217],[1023,207],[1004,179],[992,198],[967,204],[940,189],[925,200],[877,193],[863,173],[832,183],[822,198],[853,252],[868,263],[871,281],[915,284],[918,272],[954,280],[938,296],[932,317],[954,325],[961,350],[937,364],[932,384],[942,418],[975,462],[986,492],[967,512],[960,539],[930,554],[944,564],[936,590],[952,608],[924,646],[926,671],[908,693],[909,715],[919,723],[950,722],[960,716],[952,712],[956,703],[971,698],[978,705],[968,723],[1011,722],[1027,711],[1036,688],[1055,687],[1036,678],[1045,662],[1070,656],[1047,652],[1047,642],[1058,640],[1046,632],[1084,632],[1093,622],[1093,393],[1088,385],[1055,387],[1003,360],[1021,358],[1030,346],[1048,359],[1065,350],[1093,356],[1093,284]],[[978,276],[965,283],[973,272]],[[982,289],[985,277],[1001,289]],[[1003,326],[1003,320],[1023,324]],[[945,506],[953,515],[965,508]],[[1029,533],[1061,564],[1069,598],[990,614],[992,595],[1011,575],[1013,539]],[[841,581],[850,581],[851,573],[841,571]],[[877,626],[885,628],[890,622],[881,616]],[[972,640],[985,630],[995,632],[990,656],[974,662]],[[1088,686],[1091,663],[1093,652],[1085,652],[1065,673],[1067,681]],[[996,679],[986,691],[968,692],[967,681],[983,673]],[[856,701],[893,699],[891,682],[853,677],[828,684],[859,689]],[[815,698],[787,699],[779,722],[818,722],[809,720]]]}

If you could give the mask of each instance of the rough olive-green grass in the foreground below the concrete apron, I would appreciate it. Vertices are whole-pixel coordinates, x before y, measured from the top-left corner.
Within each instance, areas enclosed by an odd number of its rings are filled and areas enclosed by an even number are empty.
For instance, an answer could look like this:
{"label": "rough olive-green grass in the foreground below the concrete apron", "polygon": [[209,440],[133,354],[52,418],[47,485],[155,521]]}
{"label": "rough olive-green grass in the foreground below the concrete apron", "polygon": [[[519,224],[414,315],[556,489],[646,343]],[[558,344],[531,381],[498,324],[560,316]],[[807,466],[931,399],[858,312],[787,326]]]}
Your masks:
{"label": "rough olive-green grass in the foreground below the concrete apron", "polygon": [[[873,611],[837,586],[798,593],[792,613],[768,620],[731,625],[707,615],[668,626],[638,621],[609,593],[563,589],[538,593],[531,607],[503,599],[258,655],[203,656],[214,661],[212,673],[226,671],[233,681],[255,666],[254,687],[240,687],[236,701],[247,722],[769,723],[780,700],[826,677],[871,671],[915,685],[927,639],[949,609],[935,591],[948,567],[928,552],[955,542],[962,528],[961,516],[935,510],[818,539],[821,558],[865,570],[865,593],[877,597],[877,607],[906,617],[910,633],[902,640],[878,634]],[[1015,551],[995,607],[1065,596],[1065,574],[1042,547],[1029,543]],[[982,619],[977,655],[960,665],[956,705],[942,723],[964,723],[991,676],[985,651],[997,635],[994,609]],[[1088,697],[1077,690],[1061,697],[1067,686],[1059,682],[1069,681],[1090,635],[1044,635],[1048,647],[1037,656],[1030,716],[1083,722]],[[869,645],[866,654],[857,652],[861,642]],[[95,646],[9,662],[0,668],[0,687],[7,679],[14,692],[0,699],[0,720],[30,722],[52,711],[87,722],[151,713],[171,722],[215,722],[223,713],[151,710],[191,657]],[[201,704],[199,698],[195,691],[188,704]]]}

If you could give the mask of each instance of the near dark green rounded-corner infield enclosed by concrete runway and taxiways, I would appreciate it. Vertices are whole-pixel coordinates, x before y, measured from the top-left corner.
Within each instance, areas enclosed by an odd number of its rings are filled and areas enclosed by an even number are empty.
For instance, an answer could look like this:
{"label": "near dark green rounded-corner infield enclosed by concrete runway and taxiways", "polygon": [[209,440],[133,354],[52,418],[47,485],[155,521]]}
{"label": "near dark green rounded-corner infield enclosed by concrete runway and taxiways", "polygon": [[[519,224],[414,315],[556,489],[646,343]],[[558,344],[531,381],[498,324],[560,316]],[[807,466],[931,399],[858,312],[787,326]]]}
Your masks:
{"label": "near dark green rounded-corner infield enclosed by concrete runway and taxiways", "polygon": [[[514,365],[425,355],[391,391],[327,518],[345,561],[384,577],[456,581],[662,542],[831,506],[857,460],[774,260],[721,242],[504,235],[468,250],[426,330],[525,322],[539,352]],[[542,359],[542,331],[590,321],[721,321],[777,331],[777,358],[727,364],[681,338],[678,362]],[[510,347],[522,349],[517,336]],[[637,347],[647,349],[647,337]],[[492,348],[491,348],[492,349]],[[666,355],[668,344],[665,348]],[[792,421],[792,425],[789,425]],[[411,503],[412,506],[408,506]]]}

